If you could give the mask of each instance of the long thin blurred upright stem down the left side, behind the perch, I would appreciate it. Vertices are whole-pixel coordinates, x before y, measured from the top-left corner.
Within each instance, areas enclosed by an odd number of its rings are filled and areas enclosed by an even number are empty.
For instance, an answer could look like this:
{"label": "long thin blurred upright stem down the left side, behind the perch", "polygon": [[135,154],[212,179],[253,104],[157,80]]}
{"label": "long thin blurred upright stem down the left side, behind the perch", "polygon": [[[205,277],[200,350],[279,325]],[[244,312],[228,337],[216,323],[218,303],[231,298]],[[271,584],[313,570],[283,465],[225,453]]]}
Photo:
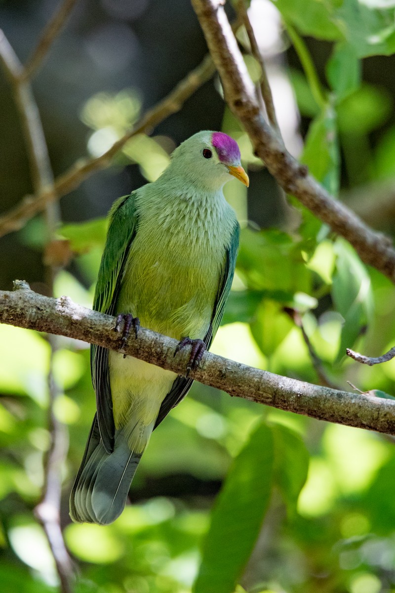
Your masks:
{"label": "long thin blurred upright stem down the left side, behind the perch", "polygon": [[[41,125],[40,114],[34,101],[27,78],[20,73],[22,65],[4,34],[0,36],[0,58],[14,90],[20,120],[24,132],[25,144],[30,171],[36,193],[49,190],[53,193],[53,173],[50,165],[46,139]],[[47,239],[52,240],[59,223],[59,204],[47,203],[45,209]],[[46,266],[46,284],[50,294],[53,292],[53,280],[56,269],[50,264]],[[60,497],[62,489],[62,466],[68,451],[68,433],[65,425],[54,415],[54,404],[61,395],[59,386],[53,376],[52,362],[57,349],[57,337],[52,334],[47,337],[51,347],[49,382],[49,432],[51,444],[44,463],[44,487],[40,503],[36,506],[36,517],[43,525],[54,557],[60,586],[63,593],[71,593],[73,581],[73,567],[66,550],[60,528]]]}

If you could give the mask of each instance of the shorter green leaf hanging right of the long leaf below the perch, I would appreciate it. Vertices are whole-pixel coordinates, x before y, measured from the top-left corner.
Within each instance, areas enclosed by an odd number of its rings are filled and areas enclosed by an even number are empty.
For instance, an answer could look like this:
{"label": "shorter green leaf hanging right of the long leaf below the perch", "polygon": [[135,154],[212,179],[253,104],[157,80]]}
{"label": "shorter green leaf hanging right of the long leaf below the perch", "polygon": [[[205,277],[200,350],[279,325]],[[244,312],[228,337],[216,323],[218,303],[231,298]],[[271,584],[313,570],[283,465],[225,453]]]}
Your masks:
{"label": "shorter green leaf hanging right of the long leaf below the perch", "polygon": [[272,426],[274,438],[274,480],[287,505],[288,515],[296,513],[298,496],[307,479],[309,451],[301,437],[280,424]]}

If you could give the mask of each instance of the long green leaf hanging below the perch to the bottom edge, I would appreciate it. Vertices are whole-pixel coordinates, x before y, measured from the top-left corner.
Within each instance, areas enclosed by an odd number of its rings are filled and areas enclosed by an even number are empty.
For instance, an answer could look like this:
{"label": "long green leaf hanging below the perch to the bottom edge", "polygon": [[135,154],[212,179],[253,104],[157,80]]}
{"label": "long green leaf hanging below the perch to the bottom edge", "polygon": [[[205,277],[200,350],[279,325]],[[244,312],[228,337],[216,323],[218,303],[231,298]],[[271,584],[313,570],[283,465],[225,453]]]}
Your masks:
{"label": "long green leaf hanging below the perch to the bottom edge", "polygon": [[272,431],[260,424],[233,461],[214,505],[194,593],[235,590],[268,508],[272,465]]}

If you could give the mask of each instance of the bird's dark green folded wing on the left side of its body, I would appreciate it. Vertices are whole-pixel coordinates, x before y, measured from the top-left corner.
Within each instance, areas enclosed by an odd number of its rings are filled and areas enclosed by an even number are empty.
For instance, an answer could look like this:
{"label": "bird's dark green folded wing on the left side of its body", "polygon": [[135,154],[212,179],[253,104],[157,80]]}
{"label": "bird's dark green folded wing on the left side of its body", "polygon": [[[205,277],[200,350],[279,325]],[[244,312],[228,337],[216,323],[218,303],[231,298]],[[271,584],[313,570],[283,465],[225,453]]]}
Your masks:
{"label": "bird's dark green folded wing on the left side of its body", "polygon": [[[137,215],[134,195],[121,197],[110,212],[107,241],[102,255],[96,285],[94,310],[114,315],[118,292],[123,278],[124,264],[131,243],[136,235]],[[96,393],[97,419],[100,436],[105,450],[114,448],[114,417],[111,400],[110,374],[108,372],[108,350],[102,346],[91,346],[92,382]]]}

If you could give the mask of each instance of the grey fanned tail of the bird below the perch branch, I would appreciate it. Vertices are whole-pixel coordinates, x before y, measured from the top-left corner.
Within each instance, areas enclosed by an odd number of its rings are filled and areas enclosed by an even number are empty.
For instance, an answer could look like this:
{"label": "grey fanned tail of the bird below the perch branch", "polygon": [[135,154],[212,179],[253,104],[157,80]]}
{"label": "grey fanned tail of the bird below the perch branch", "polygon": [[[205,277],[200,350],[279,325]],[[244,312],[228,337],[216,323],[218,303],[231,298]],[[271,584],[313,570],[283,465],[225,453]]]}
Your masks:
{"label": "grey fanned tail of the bird below the perch branch", "polygon": [[115,431],[114,451],[107,453],[94,417],[84,458],[70,494],[70,517],[75,522],[108,525],[126,505],[131,480],[142,454],[130,452],[123,430]]}

